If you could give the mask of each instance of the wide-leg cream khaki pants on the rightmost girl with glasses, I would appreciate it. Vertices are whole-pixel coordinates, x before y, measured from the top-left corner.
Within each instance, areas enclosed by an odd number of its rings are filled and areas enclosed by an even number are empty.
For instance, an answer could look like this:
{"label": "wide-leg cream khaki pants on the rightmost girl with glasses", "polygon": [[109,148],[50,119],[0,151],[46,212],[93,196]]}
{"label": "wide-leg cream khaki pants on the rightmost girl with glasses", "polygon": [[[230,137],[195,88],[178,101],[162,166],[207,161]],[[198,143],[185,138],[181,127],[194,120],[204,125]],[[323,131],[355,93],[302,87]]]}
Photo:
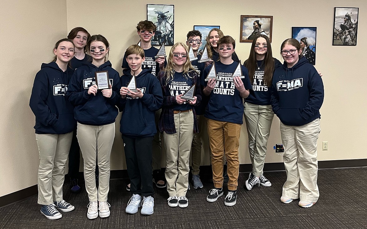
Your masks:
{"label": "wide-leg cream khaki pants on the rightmost girl with glasses", "polygon": [[287,126],[280,122],[281,140],[284,145],[284,167],[287,181],[282,195],[307,202],[319,199],[317,186],[317,138],[320,119],[303,126]]}

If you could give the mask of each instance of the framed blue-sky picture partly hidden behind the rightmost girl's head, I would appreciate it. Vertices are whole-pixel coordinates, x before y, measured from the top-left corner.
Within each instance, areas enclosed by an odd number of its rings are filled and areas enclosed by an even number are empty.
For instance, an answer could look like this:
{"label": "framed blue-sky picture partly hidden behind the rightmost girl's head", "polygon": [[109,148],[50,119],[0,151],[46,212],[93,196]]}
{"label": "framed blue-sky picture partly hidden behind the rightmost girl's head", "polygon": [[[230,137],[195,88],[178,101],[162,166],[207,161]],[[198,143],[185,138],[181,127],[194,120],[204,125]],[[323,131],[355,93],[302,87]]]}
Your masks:
{"label": "framed blue-sky picture partly hidden behind the rightmost girl's head", "polygon": [[316,63],[316,27],[292,27],[292,38],[301,43],[302,55],[312,65]]}

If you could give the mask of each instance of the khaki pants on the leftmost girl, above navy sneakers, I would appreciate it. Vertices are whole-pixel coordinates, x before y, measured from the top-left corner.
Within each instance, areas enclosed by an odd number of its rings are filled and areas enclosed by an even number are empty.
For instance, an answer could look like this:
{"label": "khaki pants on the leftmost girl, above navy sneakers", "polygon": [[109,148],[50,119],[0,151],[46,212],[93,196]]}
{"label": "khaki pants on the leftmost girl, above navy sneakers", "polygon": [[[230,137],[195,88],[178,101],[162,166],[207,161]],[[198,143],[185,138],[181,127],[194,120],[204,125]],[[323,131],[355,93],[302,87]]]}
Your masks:
{"label": "khaki pants on the leftmost girl, above navy sneakers", "polygon": [[72,138],[73,132],[36,134],[40,154],[37,203],[50,205],[62,200],[62,185]]}

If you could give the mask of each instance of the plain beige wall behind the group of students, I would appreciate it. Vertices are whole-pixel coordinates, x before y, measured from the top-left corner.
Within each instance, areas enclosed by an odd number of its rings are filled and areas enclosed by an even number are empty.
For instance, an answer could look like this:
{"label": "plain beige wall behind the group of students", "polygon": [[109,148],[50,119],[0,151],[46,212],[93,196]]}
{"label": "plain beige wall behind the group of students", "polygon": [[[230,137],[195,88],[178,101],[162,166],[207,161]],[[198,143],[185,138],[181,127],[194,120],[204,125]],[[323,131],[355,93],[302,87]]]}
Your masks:
{"label": "plain beige wall behind the group of students", "polygon": [[[80,2],[63,1],[3,1],[1,35],[3,45],[0,77],[0,196],[37,184],[38,151],[34,139],[34,115],[29,108],[33,79],[42,62],[52,58],[52,46],[76,27],[82,26],[91,34],[102,34],[110,42],[110,60],[122,73],[123,53],[130,44],[139,40],[135,26],[146,19],[146,4],[175,4],[175,42],[185,41],[186,33],[193,25],[220,25],[225,35],[239,40],[240,15],[273,15],[272,46],[274,57],[281,59],[280,44],[291,36],[292,26],[317,26],[316,68],[323,74],[325,100],[321,108],[321,133],[319,160],[367,158],[363,141],[367,138],[367,112],[365,85],[362,70],[366,63],[367,3],[365,0],[332,3],[304,1],[268,1],[245,4],[243,1],[199,1],[196,9],[187,1],[143,0],[88,1],[89,6],[80,8]],[[227,2],[226,2],[227,3]],[[297,5],[299,7],[297,7]],[[332,46],[333,14],[335,6],[359,7],[361,22],[355,47]],[[210,12],[215,12],[213,16]],[[101,19],[96,19],[101,18]],[[236,44],[241,60],[248,57],[250,43]],[[166,47],[169,51],[170,47]],[[8,54],[8,55],[6,55]],[[6,66],[6,67],[5,67]],[[10,70],[11,69],[11,70]],[[10,70],[10,71],[8,71]],[[9,77],[9,74],[16,77]],[[119,119],[119,117],[118,117]],[[112,169],[125,169],[119,124],[112,152]],[[241,130],[240,162],[250,163],[247,149],[246,127]],[[321,151],[321,141],[328,141],[328,151]],[[273,151],[280,143],[279,119],[274,118],[268,143],[266,162],[282,162]],[[207,143],[204,144],[207,152]],[[208,155],[203,154],[204,164]]]}

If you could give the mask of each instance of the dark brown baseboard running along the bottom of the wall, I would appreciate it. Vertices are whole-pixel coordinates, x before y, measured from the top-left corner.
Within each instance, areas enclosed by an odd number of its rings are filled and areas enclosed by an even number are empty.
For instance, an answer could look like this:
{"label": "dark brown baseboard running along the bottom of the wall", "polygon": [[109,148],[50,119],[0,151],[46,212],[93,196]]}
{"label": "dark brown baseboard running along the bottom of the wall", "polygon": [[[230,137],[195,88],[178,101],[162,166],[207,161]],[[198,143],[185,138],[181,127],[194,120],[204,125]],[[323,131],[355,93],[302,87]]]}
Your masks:
{"label": "dark brown baseboard running along the bottom of the wall", "polygon": [[[338,169],[338,168],[353,168],[353,167],[366,167],[366,159],[352,159],[352,160],[323,160],[319,161],[319,169]],[[251,164],[241,164],[239,168],[240,173],[246,173],[251,171]],[[284,171],[283,162],[278,163],[265,163],[264,171]],[[211,166],[200,166],[200,176],[211,176]],[[79,174],[80,180],[83,180],[83,172]],[[124,179],[128,178],[127,170],[112,170],[110,179]],[[69,183],[68,175],[65,176],[65,183]],[[21,189],[17,192],[10,193],[0,197],[0,208],[7,207],[11,204],[18,203],[31,196],[37,195],[37,185],[30,186],[28,188]]]}

